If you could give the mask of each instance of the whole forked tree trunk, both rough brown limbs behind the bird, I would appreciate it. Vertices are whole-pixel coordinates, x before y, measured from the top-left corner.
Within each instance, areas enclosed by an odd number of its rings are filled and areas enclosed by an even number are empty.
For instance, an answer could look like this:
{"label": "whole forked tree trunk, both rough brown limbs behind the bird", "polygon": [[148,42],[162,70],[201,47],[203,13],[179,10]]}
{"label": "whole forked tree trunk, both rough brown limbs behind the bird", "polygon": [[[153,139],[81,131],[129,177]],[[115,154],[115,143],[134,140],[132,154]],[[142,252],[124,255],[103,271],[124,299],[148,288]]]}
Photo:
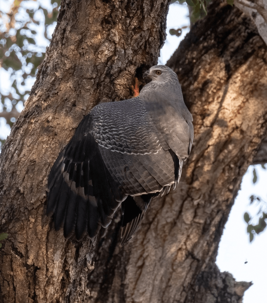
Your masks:
{"label": "whole forked tree trunk, both rough brown limbs behind the bird", "polygon": [[130,97],[154,65],[167,1],[63,0],[51,46],[5,143],[0,174],[0,302],[241,302],[249,283],[215,258],[242,176],[267,117],[267,48],[238,9],[212,4],[168,65],[194,117],[195,141],[178,188],[152,200],[119,247],[120,213],[97,239],[65,239],[45,215],[47,176],[82,116]]}

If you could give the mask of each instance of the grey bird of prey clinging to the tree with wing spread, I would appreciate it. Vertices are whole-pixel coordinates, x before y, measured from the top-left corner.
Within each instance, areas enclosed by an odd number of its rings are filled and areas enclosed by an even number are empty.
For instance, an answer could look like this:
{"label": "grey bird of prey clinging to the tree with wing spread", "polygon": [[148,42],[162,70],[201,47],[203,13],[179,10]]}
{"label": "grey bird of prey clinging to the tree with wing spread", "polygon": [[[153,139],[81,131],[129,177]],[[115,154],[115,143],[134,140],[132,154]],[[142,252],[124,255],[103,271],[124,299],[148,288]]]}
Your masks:
{"label": "grey bird of prey clinging to the tree with wing spread", "polygon": [[192,115],[171,68],[155,65],[143,77],[151,81],[138,96],[93,107],[52,166],[46,213],[65,238],[94,238],[121,207],[123,246],[152,198],[179,183]]}

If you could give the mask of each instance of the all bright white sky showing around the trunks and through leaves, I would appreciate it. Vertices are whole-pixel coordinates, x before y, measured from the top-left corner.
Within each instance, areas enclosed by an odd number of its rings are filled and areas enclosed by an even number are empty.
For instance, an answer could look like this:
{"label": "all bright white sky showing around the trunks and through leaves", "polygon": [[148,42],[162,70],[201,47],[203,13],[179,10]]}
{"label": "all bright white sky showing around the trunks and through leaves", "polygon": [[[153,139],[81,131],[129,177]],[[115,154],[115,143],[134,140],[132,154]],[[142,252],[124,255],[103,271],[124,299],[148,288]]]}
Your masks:
{"label": "all bright white sky showing around the trunks and through leaves", "polygon": [[[0,5],[6,3],[6,0],[0,0]],[[42,1],[44,3],[45,0]],[[186,5],[173,4],[170,6],[169,15],[167,17],[167,40],[161,50],[159,64],[165,64],[178,47],[185,34],[189,32],[189,28],[182,31],[180,37],[171,36],[169,30],[171,28],[181,28],[189,25],[188,8]],[[40,16],[42,18],[42,16]],[[52,28],[51,28],[52,32]],[[47,41],[47,40],[46,40]],[[40,38],[40,44],[44,46],[45,42]],[[8,83],[5,82],[6,72],[0,69],[0,90],[4,89]],[[29,84],[29,85],[32,85]],[[22,110],[22,104],[18,105],[18,110]],[[0,103],[0,114],[2,108]],[[10,132],[10,127],[6,125],[5,119],[0,118],[0,138],[6,138]],[[267,165],[266,165],[267,167]],[[237,281],[252,281],[253,285],[245,292],[243,303],[266,303],[265,287],[267,285],[267,230],[256,235],[252,243],[249,242],[249,235],[246,232],[247,224],[244,221],[244,213],[257,217],[259,210],[267,209],[267,204],[250,204],[249,197],[251,195],[261,196],[267,201],[267,169],[263,169],[261,165],[255,166],[258,175],[258,181],[253,184],[253,167],[249,167],[245,174],[241,190],[232,207],[229,220],[225,225],[222,239],[219,245],[219,252],[216,260],[220,271],[229,271]],[[256,223],[256,222],[255,222]],[[247,262],[245,264],[245,262]]]}

